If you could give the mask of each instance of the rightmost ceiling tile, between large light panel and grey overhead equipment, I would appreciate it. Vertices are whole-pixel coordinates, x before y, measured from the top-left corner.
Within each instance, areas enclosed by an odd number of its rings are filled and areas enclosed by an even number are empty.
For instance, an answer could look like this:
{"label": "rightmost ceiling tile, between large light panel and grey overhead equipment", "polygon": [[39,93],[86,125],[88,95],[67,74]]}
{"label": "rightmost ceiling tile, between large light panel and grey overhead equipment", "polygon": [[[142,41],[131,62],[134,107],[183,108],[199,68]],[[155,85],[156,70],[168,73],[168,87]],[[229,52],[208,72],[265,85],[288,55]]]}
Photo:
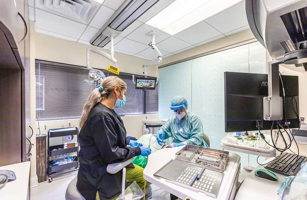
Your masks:
{"label": "rightmost ceiling tile, between large light panel and grey overhead equipment", "polygon": [[212,16],[205,21],[222,33],[227,33],[246,26],[248,25],[248,22],[245,12],[245,1]]}

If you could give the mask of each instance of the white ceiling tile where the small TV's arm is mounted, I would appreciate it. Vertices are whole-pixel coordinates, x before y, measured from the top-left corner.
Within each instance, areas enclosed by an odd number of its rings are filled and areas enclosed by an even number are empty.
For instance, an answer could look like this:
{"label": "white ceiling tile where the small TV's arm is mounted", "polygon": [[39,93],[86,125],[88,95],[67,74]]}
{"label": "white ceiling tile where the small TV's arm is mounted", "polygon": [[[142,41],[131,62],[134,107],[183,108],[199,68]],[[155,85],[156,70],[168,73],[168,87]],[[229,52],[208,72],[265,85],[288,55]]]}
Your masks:
{"label": "white ceiling tile where the small TV's arm is mounted", "polygon": [[126,38],[130,39],[130,40],[134,40],[134,41],[138,41],[140,43],[143,44],[148,44],[151,42],[151,37],[150,36],[146,36],[146,33],[149,33],[150,31],[155,31],[160,33],[160,36],[156,37],[156,43],[161,42],[162,40],[165,40],[167,38],[170,37],[169,34],[159,31],[156,28],[153,28],[147,24],[143,24],[142,26],[140,26],[139,28],[137,28],[134,32],[130,33],[128,36],[126,36]]}

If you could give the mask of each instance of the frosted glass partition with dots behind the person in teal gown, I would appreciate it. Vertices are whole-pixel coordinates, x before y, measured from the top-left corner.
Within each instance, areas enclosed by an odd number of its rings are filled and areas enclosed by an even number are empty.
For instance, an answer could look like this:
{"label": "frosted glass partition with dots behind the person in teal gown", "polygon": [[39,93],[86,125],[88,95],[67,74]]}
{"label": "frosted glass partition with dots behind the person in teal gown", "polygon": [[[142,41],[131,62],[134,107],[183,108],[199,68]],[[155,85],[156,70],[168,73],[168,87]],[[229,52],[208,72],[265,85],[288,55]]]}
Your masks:
{"label": "frosted glass partition with dots behind the person in teal gown", "polygon": [[[188,99],[188,110],[197,114],[210,138],[210,147],[220,149],[226,136],[224,125],[224,72],[265,73],[265,48],[259,42],[194,58],[159,69],[159,119],[172,113],[173,96]],[[238,79],[238,81],[240,81]],[[247,164],[247,154],[241,156],[241,166]],[[250,165],[257,166],[256,156],[250,155]],[[259,158],[262,161],[264,158]]]}

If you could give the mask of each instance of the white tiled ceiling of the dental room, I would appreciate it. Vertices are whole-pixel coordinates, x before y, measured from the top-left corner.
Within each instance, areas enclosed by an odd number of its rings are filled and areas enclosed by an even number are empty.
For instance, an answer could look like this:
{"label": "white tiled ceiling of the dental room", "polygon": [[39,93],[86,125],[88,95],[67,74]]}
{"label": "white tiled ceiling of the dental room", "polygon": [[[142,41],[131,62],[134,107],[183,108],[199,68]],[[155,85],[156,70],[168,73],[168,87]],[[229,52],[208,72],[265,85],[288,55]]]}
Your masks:
{"label": "white tiled ceiling of the dental room", "polygon": [[[161,33],[157,36],[156,43],[165,58],[249,28],[244,1],[229,0],[232,5],[226,5],[225,8],[223,6],[216,6],[219,8],[210,6],[209,9],[204,7],[204,4],[209,5],[214,1],[216,0],[198,1],[199,5],[188,6],[185,11],[177,12],[179,15],[182,14],[178,19],[174,17],[170,19],[171,16],[175,16],[172,14],[171,7],[168,7],[174,2],[173,0],[158,1],[115,38],[115,52],[148,60],[156,58],[155,53],[148,46],[151,38],[145,35],[151,30]],[[90,45],[89,41],[122,2],[124,0],[86,0],[85,3],[83,2],[83,8],[87,6],[86,12],[84,9],[78,10],[78,6],[75,6],[74,13],[70,15],[66,10],[73,5],[71,0],[29,0],[29,15],[30,20],[36,21],[36,32]],[[60,6],[52,6],[56,3]],[[173,7],[176,5],[173,4]],[[202,11],[199,8],[205,9]],[[213,9],[217,9],[216,12]],[[192,25],[184,24],[180,19],[185,16],[190,18],[195,16],[196,19],[194,17]],[[163,18],[167,20],[163,21]],[[166,24],[168,22],[169,24]],[[171,29],[171,25],[176,28]],[[103,48],[109,49],[110,43]]]}

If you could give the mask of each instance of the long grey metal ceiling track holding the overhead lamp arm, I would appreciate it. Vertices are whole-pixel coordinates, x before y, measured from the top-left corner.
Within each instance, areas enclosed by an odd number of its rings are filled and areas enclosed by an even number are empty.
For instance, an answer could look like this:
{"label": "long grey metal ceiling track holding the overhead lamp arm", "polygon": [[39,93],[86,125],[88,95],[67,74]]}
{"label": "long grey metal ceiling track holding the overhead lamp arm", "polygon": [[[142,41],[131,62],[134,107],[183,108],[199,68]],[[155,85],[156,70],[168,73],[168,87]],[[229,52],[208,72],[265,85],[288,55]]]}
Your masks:
{"label": "long grey metal ceiling track holding the overhead lamp arm", "polygon": [[111,40],[110,36],[103,34],[105,29],[109,27],[116,31],[123,31],[158,1],[159,0],[126,0],[96,33],[90,43],[94,46],[104,47]]}

